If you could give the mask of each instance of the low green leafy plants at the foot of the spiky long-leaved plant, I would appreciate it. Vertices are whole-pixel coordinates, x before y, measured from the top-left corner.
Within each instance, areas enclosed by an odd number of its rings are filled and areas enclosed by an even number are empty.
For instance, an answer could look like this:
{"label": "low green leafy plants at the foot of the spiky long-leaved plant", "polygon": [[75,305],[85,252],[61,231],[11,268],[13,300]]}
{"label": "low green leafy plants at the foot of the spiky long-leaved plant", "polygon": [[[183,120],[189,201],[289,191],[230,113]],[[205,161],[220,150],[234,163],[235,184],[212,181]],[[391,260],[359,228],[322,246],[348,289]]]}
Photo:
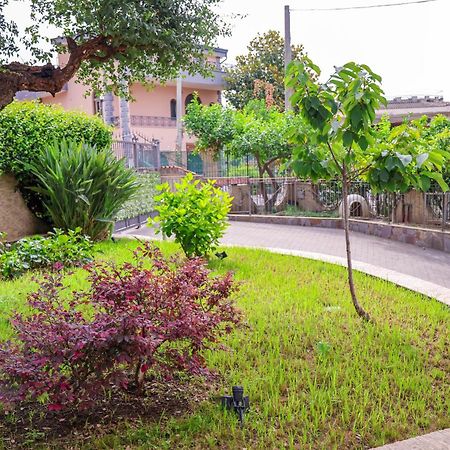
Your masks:
{"label": "low green leafy plants at the foot of the spiky long-leaved plant", "polygon": [[92,241],[81,233],[81,228],[69,230],[67,234],[55,230],[49,237],[35,236],[13,244],[0,244],[0,277],[14,278],[27,270],[56,263],[87,263],[92,255]]}

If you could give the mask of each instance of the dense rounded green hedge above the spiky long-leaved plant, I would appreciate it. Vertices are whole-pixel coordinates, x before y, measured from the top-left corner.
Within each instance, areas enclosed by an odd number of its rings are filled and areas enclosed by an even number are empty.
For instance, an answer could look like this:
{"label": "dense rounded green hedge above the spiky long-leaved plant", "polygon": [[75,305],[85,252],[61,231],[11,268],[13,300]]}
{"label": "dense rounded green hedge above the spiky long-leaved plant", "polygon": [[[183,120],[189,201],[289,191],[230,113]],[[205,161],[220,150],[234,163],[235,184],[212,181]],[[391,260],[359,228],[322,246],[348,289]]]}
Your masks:
{"label": "dense rounded green hedge above the spiky long-leaved plant", "polygon": [[54,141],[85,142],[110,147],[112,128],[101,118],[38,102],[15,101],[0,111],[0,172],[19,179],[26,164]]}

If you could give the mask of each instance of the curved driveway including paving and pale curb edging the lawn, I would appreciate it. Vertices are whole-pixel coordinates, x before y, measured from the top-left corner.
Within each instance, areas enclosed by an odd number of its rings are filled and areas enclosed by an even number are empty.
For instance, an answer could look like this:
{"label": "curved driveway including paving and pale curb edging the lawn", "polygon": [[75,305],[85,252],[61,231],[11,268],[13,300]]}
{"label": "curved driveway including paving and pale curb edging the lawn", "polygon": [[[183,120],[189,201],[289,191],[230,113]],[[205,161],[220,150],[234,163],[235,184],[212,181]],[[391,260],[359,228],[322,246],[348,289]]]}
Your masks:
{"label": "curved driveway including paving and pale curb edging the lawn", "polygon": [[[148,227],[119,235],[154,237]],[[224,245],[267,248],[334,264],[345,265],[343,230],[247,222],[230,222]],[[356,270],[392,281],[450,305],[450,254],[351,233]]]}

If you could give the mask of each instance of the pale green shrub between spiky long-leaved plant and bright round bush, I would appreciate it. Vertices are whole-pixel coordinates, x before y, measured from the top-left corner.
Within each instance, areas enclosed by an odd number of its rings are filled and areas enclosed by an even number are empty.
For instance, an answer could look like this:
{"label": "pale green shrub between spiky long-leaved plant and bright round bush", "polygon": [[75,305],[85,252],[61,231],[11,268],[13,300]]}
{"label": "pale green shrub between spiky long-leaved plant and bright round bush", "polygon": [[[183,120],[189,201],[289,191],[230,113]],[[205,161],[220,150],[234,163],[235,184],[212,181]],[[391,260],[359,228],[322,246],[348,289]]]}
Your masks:
{"label": "pale green shrub between spiky long-leaved plant and bright round bush", "polygon": [[116,214],[116,220],[131,219],[139,214],[152,212],[155,206],[156,186],[161,178],[158,173],[137,173],[139,188]]}

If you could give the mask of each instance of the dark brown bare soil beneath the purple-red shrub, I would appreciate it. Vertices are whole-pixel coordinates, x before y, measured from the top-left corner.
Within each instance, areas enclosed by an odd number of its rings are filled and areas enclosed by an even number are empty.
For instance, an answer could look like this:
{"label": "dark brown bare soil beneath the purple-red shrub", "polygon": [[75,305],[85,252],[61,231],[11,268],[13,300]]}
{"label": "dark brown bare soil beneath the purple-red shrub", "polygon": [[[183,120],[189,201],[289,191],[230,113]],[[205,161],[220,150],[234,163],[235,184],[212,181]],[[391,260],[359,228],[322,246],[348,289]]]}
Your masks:
{"label": "dark brown bare soil beneath the purple-red shrub", "polygon": [[[211,380],[209,380],[211,381]],[[0,417],[1,448],[77,449],[93,435],[114,433],[120,424],[142,426],[162,417],[182,416],[210,397],[213,385],[201,380],[149,382],[145,394],[116,391],[88,410],[49,411],[25,404]]]}

